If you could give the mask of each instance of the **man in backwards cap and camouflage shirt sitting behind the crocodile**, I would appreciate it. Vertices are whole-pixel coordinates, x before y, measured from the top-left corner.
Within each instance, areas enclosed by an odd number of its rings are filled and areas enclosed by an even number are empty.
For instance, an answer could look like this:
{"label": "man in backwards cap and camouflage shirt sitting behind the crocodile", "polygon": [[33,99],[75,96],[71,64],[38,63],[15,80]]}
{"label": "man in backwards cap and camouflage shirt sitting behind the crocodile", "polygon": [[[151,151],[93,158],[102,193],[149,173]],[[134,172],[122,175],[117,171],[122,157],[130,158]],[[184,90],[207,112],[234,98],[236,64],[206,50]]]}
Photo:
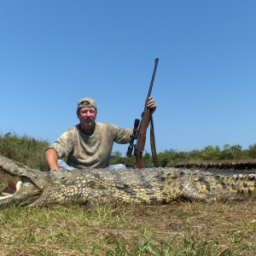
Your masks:
{"label": "man in backwards cap and camouflage shirt sitting behind the crocodile", "polygon": [[[148,108],[152,112],[156,108],[152,97],[148,98]],[[109,163],[113,143],[130,143],[132,129],[97,123],[96,114],[96,102],[93,99],[83,98],[78,102],[79,125],[65,131],[45,149],[45,159],[50,170],[105,168]],[[67,165],[58,160],[63,157],[67,158]]]}

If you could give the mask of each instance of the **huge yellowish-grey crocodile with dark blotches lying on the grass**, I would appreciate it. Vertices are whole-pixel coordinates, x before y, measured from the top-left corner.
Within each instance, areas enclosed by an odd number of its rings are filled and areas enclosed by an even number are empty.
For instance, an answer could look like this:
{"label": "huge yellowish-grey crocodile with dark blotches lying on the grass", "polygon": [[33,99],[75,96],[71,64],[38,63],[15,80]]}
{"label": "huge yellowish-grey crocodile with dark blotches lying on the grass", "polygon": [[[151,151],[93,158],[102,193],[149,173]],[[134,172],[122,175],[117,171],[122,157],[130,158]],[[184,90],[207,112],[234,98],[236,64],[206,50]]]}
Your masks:
{"label": "huge yellowish-grey crocodile with dark blotches lying on the grass", "polygon": [[2,179],[7,180],[0,193],[0,208],[101,201],[139,204],[228,201],[253,193],[256,186],[256,174],[225,176],[174,167],[41,172],[3,156],[0,156],[0,172]]}

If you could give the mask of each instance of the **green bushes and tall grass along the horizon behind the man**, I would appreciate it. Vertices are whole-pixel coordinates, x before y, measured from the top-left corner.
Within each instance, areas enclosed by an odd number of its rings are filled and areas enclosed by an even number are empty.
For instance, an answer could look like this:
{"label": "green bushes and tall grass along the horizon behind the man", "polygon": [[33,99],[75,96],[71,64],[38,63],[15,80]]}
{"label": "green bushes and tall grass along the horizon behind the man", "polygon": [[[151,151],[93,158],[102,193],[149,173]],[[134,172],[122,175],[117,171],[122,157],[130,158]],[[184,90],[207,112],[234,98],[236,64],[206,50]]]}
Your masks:
{"label": "green bushes and tall grass along the horizon behind the man", "polygon": [[[13,160],[17,160],[26,166],[46,171],[44,160],[44,149],[49,146],[46,140],[38,140],[29,136],[19,136],[15,132],[0,134],[0,154]],[[188,162],[201,161],[222,161],[222,160],[255,160],[256,143],[250,145],[247,149],[242,149],[240,144],[225,144],[223,148],[219,146],[207,146],[203,149],[191,151],[177,151],[176,149],[166,149],[157,154],[159,164],[162,167],[177,166]],[[143,155],[143,162],[146,167],[153,167],[154,163],[151,154]],[[114,151],[110,158],[110,165],[124,164],[127,167],[133,167],[136,163],[135,156],[122,156],[119,151]]]}

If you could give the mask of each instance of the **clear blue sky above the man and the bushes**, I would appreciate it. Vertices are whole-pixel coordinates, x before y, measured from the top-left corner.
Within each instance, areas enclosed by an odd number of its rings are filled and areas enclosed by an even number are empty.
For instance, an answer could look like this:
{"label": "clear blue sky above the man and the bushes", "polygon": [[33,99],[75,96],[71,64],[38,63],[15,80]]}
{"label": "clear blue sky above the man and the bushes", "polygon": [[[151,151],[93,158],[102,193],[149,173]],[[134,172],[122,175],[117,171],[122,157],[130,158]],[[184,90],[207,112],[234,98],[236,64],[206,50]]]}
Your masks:
{"label": "clear blue sky above the man and the bushes", "polygon": [[0,133],[54,142],[84,96],[98,122],[132,128],[159,57],[157,151],[245,149],[256,143],[255,13],[253,0],[0,0]]}

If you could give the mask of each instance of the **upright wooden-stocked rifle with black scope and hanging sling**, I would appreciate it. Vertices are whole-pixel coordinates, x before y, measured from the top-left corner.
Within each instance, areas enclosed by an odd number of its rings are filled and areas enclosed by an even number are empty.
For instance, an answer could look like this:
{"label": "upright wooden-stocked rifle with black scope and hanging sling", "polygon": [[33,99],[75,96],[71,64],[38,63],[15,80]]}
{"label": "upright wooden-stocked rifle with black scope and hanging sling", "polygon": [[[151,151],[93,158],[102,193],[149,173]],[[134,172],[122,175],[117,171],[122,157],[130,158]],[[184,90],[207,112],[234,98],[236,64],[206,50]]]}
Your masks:
{"label": "upright wooden-stocked rifle with black scope and hanging sling", "polygon": [[[134,148],[134,154],[136,155],[136,165],[134,166],[135,169],[141,169],[144,167],[143,151],[144,151],[144,147],[145,147],[145,143],[146,143],[146,134],[147,134],[147,129],[148,129],[149,123],[150,123],[150,144],[151,144],[153,162],[154,162],[154,166],[156,166],[156,167],[159,166],[158,160],[157,160],[157,155],[156,155],[156,149],[155,149],[154,122],[153,122],[152,112],[147,107],[148,97],[151,95],[151,90],[152,90],[153,84],[154,84],[154,76],[156,73],[158,61],[159,61],[158,58],[156,58],[154,60],[154,72],[153,72],[151,83],[149,86],[148,96],[146,98],[144,111],[142,113],[142,120],[141,120],[141,122],[139,122],[139,119],[135,119],[133,133],[131,136],[131,143],[130,143],[127,153],[126,153],[126,156],[131,156],[133,148]],[[139,125],[139,123],[140,123],[140,125]],[[137,131],[138,125],[139,125],[139,131]],[[137,133],[137,144],[134,145],[133,143],[136,138],[136,133]]]}

